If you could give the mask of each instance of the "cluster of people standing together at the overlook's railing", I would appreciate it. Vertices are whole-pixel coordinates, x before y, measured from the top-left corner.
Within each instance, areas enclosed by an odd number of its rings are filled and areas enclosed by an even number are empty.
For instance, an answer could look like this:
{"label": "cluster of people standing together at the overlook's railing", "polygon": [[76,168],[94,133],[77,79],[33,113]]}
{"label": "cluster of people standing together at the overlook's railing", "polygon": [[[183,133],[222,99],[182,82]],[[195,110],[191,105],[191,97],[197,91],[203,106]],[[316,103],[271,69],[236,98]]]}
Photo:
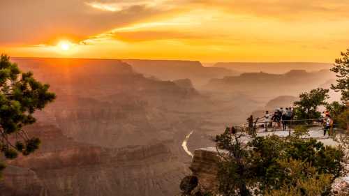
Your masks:
{"label": "cluster of people standing together at the overlook's railing", "polygon": [[269,111],[265,111],[265,131],[268,131],[268,127],[272,127],[273,130],[275,128],[281,129],[281,125],[283,130],[286,130],[292,124],[294,116],[293,107],[286,107],[285,109],[283,107],[277,108],[272,115],[269,114]]}

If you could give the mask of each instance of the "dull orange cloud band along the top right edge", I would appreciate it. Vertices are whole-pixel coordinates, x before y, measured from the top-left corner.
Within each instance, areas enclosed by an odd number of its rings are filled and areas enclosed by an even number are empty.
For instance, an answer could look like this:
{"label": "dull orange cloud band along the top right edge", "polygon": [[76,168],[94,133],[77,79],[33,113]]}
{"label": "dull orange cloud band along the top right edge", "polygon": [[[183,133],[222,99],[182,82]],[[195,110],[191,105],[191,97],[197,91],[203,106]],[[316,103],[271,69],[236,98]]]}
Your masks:
{"label": "dull orange cloud band along the top right edge", "polygon": [[232,14],[272,17],[278,20],[349,18],[349,1],[342,0],[192,0],[191,3],[220,8]]}

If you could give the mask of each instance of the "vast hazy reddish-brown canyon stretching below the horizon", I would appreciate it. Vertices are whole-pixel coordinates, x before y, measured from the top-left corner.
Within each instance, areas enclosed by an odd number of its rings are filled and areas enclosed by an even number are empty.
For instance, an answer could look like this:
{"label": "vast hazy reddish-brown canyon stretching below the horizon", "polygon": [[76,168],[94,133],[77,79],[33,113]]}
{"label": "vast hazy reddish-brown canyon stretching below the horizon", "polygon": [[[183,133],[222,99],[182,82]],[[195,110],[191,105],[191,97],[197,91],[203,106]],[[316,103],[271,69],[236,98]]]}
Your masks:
{"label": "vast hazy reddish-brown canyon stretching below the horizon", "polygon": [[[177,194],[190,173],[188,152],[211,146],[212,136],[269,100],[287,103],[334,78],[301,70],[238,75],[198,61],[12,60],[50,84],[57,100],[26,128],[43,141],[40,149],[8,160],[3,196]],[[273,100],[280,95],[290,97]]]}

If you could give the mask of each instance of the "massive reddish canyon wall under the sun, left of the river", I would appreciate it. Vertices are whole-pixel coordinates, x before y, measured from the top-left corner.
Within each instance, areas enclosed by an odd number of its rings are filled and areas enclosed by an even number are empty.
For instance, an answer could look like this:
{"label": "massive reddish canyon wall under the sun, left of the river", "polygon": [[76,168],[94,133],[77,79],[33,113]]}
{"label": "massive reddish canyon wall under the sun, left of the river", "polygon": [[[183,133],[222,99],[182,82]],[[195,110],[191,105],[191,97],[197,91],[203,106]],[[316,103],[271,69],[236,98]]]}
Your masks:
{"label": "massive reddish canyon wall under the sun, left of the river", "polygon": [[[192,99],[200,100],[195,90],[149,79],[117,60],[13,61],[22,70],[32,70],[57,93],[54,103],[36,112],[38,123],[25,128],[43,141],[40,150],[7,163],[15,168],[16,175],[8,175],[10,181],[38,187],[25,188],[24,194],[165,196],[179,192],[190,160],[181,142],[198,124],[186,109]],[[29,174],[38,183],[27,186],[29,182],[22,179]],[[11,190],[11,185],[4,188]]]}

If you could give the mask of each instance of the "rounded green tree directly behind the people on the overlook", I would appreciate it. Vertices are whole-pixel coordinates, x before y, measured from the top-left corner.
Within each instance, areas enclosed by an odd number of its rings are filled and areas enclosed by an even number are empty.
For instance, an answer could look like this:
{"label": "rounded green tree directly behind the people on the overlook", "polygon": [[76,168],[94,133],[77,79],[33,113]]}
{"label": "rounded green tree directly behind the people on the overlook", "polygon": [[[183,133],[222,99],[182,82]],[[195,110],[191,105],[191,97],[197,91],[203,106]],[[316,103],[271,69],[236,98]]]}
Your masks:
{"label": "rounded green tree directly behind the people on the overlook", "polygon": [[301,93],[299,100],[295,101],[295,115],[297,119],[318,119],[320,112],[317,111],[320,105],[326,105],[329,98],[328,89],[313,89],[310,92]]}

